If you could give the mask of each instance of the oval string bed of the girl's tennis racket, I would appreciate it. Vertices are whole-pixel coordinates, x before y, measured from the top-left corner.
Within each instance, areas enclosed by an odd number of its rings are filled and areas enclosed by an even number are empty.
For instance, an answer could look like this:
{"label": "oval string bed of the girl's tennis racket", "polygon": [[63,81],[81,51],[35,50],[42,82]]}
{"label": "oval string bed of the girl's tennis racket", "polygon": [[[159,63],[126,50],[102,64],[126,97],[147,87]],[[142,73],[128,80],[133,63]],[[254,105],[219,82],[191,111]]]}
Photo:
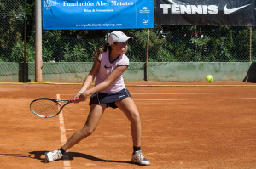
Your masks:
{"label": "oval string bed of the girl's tennis racket", "polygon": [[32,103],[32,110],[38,115],[55,115],[61,110],[61,104],[47,99],[39,99]]}

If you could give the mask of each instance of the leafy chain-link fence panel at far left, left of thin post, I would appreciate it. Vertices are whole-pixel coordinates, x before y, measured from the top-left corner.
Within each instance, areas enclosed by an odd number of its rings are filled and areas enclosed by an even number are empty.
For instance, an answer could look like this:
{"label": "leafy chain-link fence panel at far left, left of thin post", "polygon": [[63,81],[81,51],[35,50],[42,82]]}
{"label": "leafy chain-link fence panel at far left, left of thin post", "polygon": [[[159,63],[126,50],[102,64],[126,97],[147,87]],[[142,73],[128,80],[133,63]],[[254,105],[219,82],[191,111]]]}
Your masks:
{"label": "leafy chain-link fence panel at far left, left of thin post", "polygon": [[23,61],[25,15],[26,1],[0,1],[0,62]]}

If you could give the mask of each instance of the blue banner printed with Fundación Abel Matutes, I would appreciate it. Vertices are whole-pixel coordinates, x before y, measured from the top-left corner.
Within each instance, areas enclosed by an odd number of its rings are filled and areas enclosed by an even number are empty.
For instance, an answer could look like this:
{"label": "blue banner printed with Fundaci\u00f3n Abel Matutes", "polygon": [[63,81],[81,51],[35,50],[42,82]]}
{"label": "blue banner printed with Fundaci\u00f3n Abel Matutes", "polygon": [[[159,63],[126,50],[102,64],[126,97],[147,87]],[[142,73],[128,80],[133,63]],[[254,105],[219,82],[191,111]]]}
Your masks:
{"label": "blue banner printed with Fundaci\u00f3n Abel Matutes", "polygon": [[154,27],[154,0],[43,0],[44,30]]}

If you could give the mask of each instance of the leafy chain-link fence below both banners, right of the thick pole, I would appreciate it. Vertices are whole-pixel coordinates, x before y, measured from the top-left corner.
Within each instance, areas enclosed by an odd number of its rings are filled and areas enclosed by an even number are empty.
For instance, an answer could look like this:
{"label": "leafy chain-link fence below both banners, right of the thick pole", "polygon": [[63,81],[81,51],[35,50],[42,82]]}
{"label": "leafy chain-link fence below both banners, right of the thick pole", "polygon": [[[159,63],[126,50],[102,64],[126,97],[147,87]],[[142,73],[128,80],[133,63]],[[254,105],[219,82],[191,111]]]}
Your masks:
{"label": "leafy chain-link fence below both banners, right of the thick pole", "polygon": [[[123,31],[134,37],[127,53],[131,62],[249,62],[255,58],[256,36],[255,27],[250,29],[161,26]],[[43,31],[43,60],[90,62],[96,48],[108,42],[110,31]]]}

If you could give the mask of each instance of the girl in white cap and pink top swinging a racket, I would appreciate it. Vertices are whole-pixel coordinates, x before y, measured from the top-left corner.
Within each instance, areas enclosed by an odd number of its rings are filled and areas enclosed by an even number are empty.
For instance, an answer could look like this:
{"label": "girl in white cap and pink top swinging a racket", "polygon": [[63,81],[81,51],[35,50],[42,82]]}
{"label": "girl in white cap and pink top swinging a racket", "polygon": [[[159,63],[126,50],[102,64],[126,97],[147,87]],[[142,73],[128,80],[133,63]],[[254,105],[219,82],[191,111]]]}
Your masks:
{"label": "girl in white cap and pink top swinging a racket", "polygon": [[[131,136],[133,141],[133,153],[131,162],[138,165],[149,166],[150,162],[141,151],[141,121],[137,106],[131,99],[124,84],[122,74],[129,65],[129,59],[125,55],[127,42],[132,37],[127,37],[121,31],[113,31],[108,37],[105,47],[99,48],[95,56],[94,65],[86,76],[79,93],[74,97],[74,102],[79,103],[90,97],[90,113],[82,129],[74,132],[61,149],[45,153],[47,161],[60,159],[67,149],[78,144],[82,139],[90,136],[96,129],[106,108],[119,108],[131,121]],[[96,77],[95,86],[88,89],[90,83]]]}

